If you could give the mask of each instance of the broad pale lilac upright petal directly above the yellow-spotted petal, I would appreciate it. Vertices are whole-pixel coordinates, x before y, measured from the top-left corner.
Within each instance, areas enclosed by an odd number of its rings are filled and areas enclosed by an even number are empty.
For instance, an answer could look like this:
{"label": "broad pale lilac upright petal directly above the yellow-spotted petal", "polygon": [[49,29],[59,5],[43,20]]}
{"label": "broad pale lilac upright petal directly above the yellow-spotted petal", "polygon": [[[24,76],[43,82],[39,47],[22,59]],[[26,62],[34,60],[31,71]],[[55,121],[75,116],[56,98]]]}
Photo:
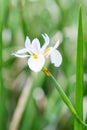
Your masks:
{"label": "broad pale lilac upright petal directly above the yellow-spotted petal", "polygon": [[40,42],[37,38],[32,41],[31,51],[36,54],[40,52]]}

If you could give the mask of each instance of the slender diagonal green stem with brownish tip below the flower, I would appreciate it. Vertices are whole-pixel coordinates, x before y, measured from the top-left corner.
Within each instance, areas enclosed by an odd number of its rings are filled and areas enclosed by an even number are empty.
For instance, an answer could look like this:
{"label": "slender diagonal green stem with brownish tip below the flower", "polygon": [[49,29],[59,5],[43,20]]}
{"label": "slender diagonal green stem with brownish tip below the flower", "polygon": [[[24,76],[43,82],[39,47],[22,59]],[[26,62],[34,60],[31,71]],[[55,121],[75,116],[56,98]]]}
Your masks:
{"label": "slender diagonal green stem with brownish tip below the flower", "polygon": [[82,125],[84,125],[85,127],[87,127],[87,124],[85,124],[78,116],[75,108],[73,107],[71,101],[69,100],[69,98],[67,97],[67,95],[65,94],[65,92],[63,91],[62,87],[58,84],[58,82],[56,81],[56,79],[53,77],[53,75],[49,72],[49,70],[46,67],[43,67],[42,71],[51,79],[51,81],[54,84],[54,87],[57,89],[57,91],[59,92],[62,100],[64,101],[64,103],[68,106],[69,110],[72,112],[72,114],[75,116],[75,118],[78,120],[79,123],[81,123]]}

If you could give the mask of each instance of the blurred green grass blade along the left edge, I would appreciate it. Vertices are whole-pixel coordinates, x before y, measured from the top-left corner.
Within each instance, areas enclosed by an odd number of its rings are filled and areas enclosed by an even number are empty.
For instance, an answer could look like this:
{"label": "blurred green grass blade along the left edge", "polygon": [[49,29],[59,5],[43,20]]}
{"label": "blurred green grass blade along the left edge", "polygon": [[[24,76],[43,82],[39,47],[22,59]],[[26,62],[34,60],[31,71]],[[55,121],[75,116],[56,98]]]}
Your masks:
{"label": "blurred green grass blade along the left edge", "polygon": [[2,40],[2,32],[4,27],[7,24],[7,16],[8,16],[8,1],[4,3],[4,0],[0,0],[0,130],[4,130],[7,128],[5,125],[7,123],[7,111],[6,111],[6,89],[4,86],[4,78],[3,78],[3,40]]}

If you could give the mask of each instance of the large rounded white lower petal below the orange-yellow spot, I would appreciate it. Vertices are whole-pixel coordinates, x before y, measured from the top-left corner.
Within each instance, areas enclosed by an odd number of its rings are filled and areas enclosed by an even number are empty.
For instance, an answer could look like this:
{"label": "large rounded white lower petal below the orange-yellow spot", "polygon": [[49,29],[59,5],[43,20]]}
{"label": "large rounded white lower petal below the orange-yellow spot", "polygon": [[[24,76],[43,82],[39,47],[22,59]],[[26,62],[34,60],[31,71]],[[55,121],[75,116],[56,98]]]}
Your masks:
{"label": "large rounded white lower petal below the orange-yellow spot", "polygon": [[33,56],[31,56],[28,60],[29,68],[34,72],[39,72],[44,66],[44,63],[45,59],[43,55],[39,55],[38,59],[34,59]]}

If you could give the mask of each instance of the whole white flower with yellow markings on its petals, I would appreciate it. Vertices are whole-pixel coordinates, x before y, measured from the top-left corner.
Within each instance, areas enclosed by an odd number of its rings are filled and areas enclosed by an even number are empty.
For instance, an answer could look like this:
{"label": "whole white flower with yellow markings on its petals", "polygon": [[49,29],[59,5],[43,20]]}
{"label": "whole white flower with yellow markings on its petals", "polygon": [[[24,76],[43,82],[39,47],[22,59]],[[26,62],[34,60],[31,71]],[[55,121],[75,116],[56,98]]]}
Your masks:
{"label": "whole white flower with yellow markings on its petals", "polygon": [[62,56],[57,50],[59,41],[54,47],[47,48],[49,44],[49,37],[47,34],[42,34],[42,37],[45,41],[42,47],[40,47],[40,42],[37,38],[35,38],[31,43],[27,36],[25,40],[25,48],[12,53],[12,55],[16,57],[28,57],[28,66],[35,72],[39,72],[43,68],[45,60],[48,56],[50,57],[51,63],[53,63],[56,67],[59,67],[62,63]]}

